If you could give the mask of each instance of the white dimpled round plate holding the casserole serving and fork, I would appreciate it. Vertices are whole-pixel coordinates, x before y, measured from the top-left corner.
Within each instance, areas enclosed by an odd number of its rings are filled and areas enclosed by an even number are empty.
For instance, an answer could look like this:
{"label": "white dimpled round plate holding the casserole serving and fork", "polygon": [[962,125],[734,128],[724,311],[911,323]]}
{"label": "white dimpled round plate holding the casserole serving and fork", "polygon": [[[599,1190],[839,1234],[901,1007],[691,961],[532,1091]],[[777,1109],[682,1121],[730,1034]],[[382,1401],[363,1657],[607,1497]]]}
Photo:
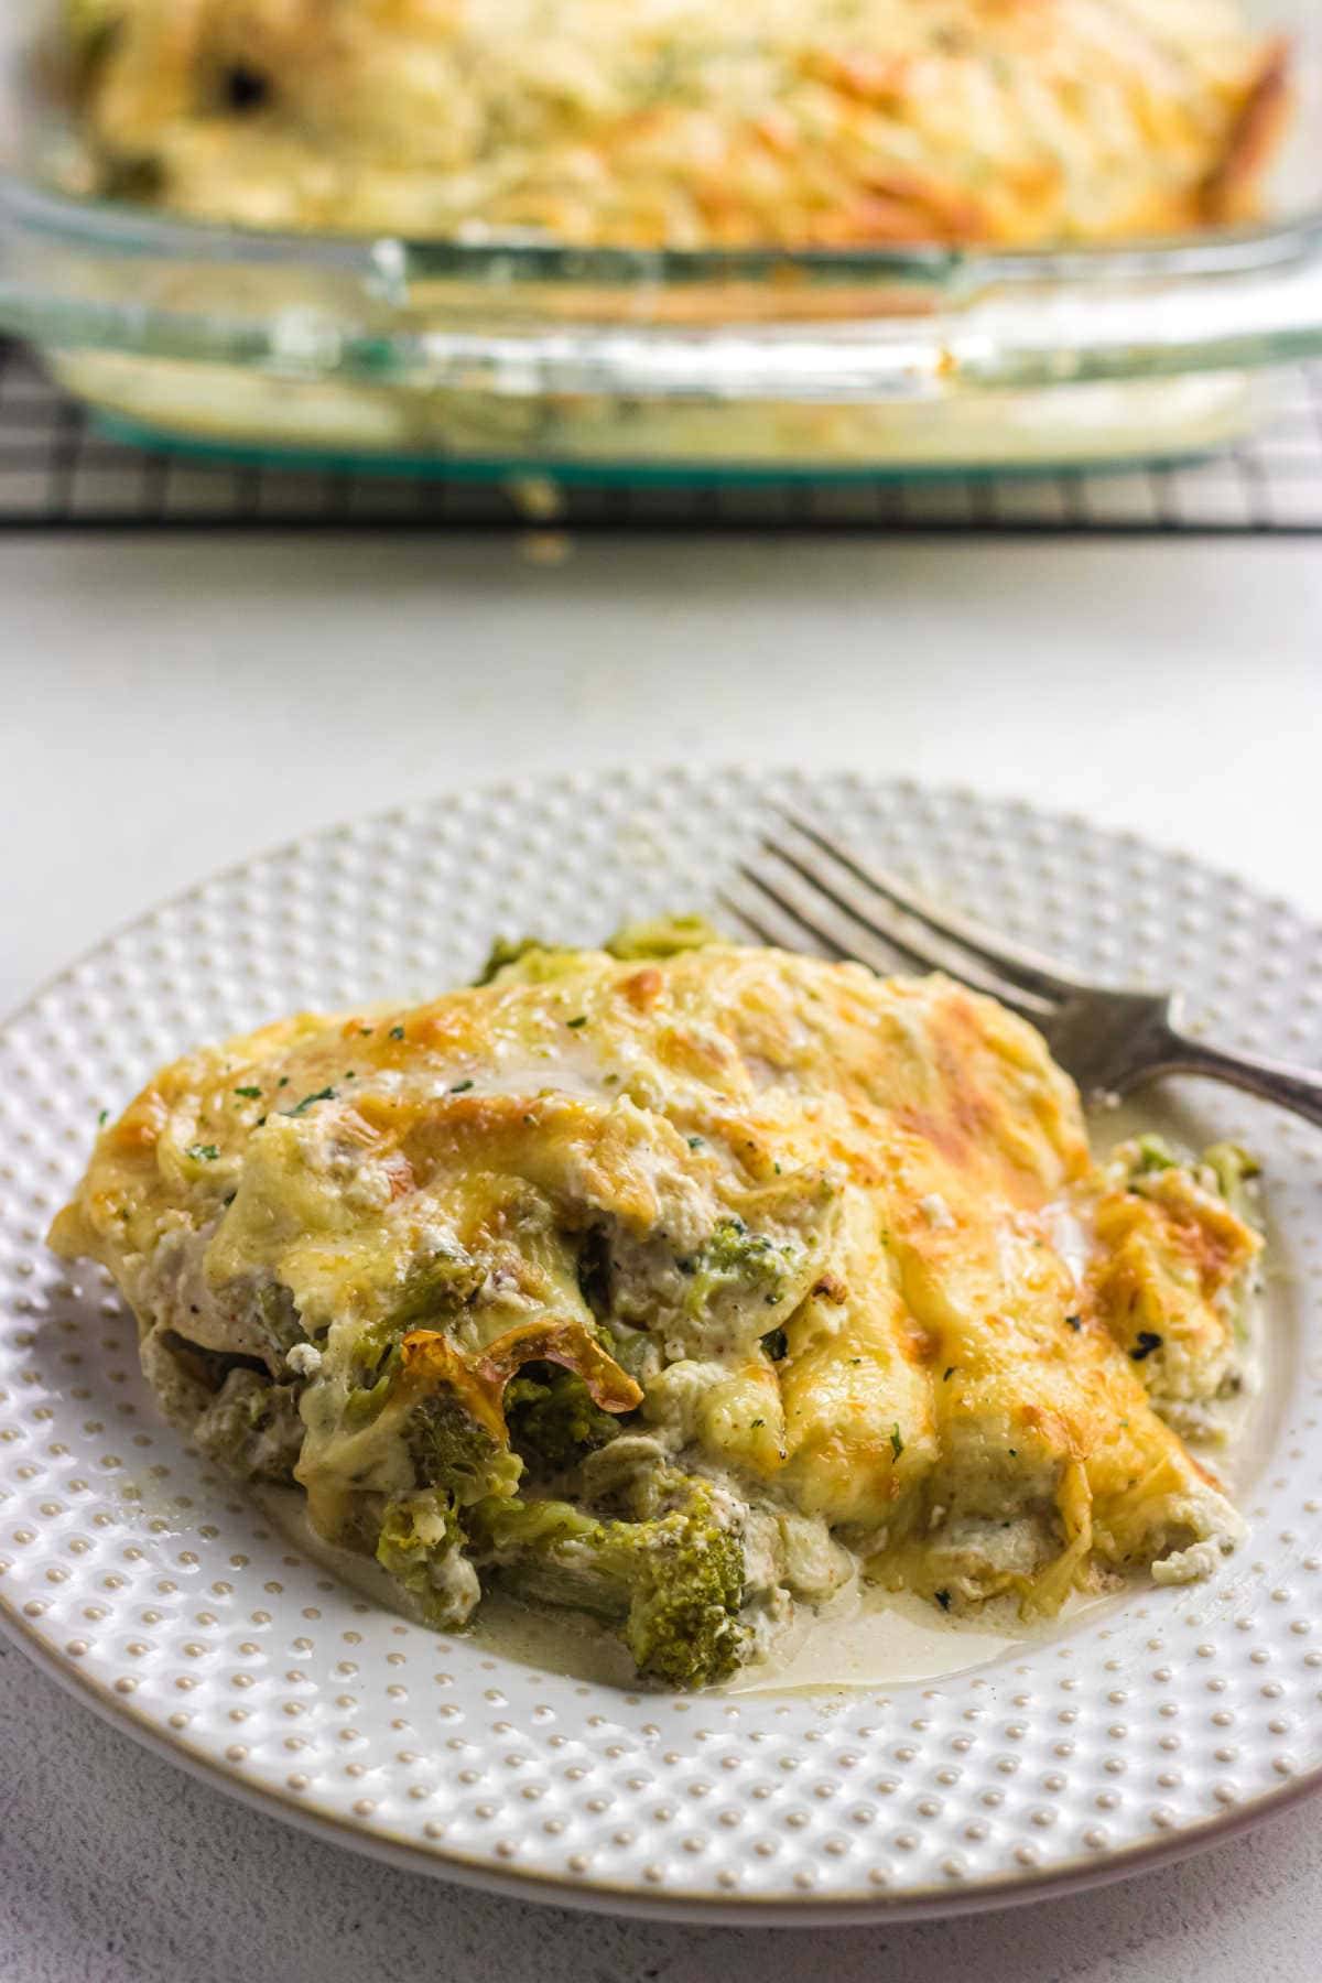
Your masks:
{"label": "white dimpled round plate holding the casserole serving and fork", "polygon": [[747,771],[460,793],[224,875],[0,1035],[0,1616],[97,1707],[345,1842],[547,1900],[725,1920],[941,1912],[1187,1850],[1322,1777],[1322,1138],[1229,1091],[1189,1134],[1267,1162],[1272,1380],[1209,1584],[1136,1586],[941,1682],[618,1693],[367,1604],[186,1452],[107,1277],[44,1249],[101,1108],[297,1005],[428,997],[494,934],[702,908],[791,801],[1219,1039],[1322,1063],[1322,932],[1080,819]]}

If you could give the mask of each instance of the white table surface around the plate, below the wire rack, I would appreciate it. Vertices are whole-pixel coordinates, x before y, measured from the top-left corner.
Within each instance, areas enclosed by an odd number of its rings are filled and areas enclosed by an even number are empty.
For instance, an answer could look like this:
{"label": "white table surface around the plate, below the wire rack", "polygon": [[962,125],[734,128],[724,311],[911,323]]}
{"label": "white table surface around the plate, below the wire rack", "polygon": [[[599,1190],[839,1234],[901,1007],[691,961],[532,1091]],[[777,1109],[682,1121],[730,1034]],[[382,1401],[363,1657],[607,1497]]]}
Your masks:
{"label": "white table surface around the plate, below the wire rack", "polygon": [[[0,539],[0,1009],[347,813],[620,758],[870,765],[1136,827],[1322,914],[1314,543]],[[0,1983],[1304,1983],[1322,1807],[977,1920],[686,1929],[285,1830],[0,1642]]]}

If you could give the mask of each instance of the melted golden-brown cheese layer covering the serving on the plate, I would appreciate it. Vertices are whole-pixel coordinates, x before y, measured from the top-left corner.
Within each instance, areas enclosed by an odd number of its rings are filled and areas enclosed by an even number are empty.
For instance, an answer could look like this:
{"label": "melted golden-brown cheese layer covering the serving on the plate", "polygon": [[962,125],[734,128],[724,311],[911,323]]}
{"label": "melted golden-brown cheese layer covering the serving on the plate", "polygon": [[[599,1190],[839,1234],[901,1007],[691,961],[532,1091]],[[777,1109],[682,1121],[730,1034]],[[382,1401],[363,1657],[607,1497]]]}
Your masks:
{"label": "melted golden-brown cheese layer covering the serving on the plate", "polygon": [[[371,1547],[381,1497],[422,1485],[420,1394],[450,1386],[499,1440],[539,1358],[749,1523],[817,1521],[943,1604],[1054,1608],[1132,1567],[1201,1575],[1237,1533],[1146,1380],[1179,1354],[1223,1382],[1225,1333],[1199,1341],[1189,1303],[1177,1325],[1171,1275],[1211,1299],[1259,1241],[1209,1178],[1126,1180],[1094,1170],[1043,1039],[943,978],[533,950],[418,1009],[163,1069],[52,1243],[115,1273],[153,1380],[186,1372],[186,1424],[242,1406],[270,1456],[266,1366],[329,1537]],[[386,1341],[402,1374],[367,1418]]]}

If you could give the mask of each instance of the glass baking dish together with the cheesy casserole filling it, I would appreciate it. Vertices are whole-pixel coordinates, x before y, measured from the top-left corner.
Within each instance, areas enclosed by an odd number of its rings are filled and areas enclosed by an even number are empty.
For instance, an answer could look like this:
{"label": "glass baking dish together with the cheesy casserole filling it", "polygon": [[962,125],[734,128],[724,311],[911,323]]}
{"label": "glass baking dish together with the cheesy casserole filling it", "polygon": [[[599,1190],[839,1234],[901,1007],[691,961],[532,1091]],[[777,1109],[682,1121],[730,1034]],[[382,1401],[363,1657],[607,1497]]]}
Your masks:
{"label": "glass baking dish together with the cheesy casserole filling it", "polygon": [[1169,456],[1322,347],[1304,0],[61,0],[0,323],[129,428],[444,472]]}

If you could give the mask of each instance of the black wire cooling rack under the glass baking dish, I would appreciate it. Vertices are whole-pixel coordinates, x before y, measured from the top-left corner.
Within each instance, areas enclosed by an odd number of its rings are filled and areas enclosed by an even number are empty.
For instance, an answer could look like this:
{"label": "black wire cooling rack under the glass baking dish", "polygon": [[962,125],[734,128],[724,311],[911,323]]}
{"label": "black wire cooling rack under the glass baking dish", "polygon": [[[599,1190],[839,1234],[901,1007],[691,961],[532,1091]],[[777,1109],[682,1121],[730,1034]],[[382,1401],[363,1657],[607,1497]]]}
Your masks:
{"label": "black wire cooling rack under the glass baking dish", "polygon": [[[0,341],[0,531],[12,529],[605,529],[1322,535],[1322,365],[1265,383],[1253,438],[1207,460],[1106,474],[864,478],[817,486],[555,492],[432,478],[200,464],[97,428],[20,345]],[[531,492],[539,494],[537,490]]]}

